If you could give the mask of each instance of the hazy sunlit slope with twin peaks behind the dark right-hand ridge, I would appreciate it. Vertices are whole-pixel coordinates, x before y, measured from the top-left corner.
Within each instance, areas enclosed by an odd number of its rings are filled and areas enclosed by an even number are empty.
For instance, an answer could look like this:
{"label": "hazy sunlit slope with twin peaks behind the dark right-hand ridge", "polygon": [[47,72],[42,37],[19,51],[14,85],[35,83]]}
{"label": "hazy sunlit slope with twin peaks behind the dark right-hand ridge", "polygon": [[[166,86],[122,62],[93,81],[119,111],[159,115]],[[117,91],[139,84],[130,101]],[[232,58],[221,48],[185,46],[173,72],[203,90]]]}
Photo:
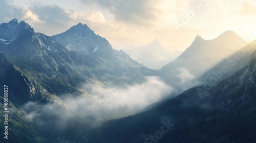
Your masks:
{"label": "hazy sunlit slope with twin peaks behind the dark right-hand ridge", "polygon": [[193,80],[198,79],[223,58],[237,52],[245,43],[246,41],[232,31],[226,31],[214,40],[204,40],[197,36],[175,61],[160,69],[159,76],[178,91],[188,89],[195,85]]}

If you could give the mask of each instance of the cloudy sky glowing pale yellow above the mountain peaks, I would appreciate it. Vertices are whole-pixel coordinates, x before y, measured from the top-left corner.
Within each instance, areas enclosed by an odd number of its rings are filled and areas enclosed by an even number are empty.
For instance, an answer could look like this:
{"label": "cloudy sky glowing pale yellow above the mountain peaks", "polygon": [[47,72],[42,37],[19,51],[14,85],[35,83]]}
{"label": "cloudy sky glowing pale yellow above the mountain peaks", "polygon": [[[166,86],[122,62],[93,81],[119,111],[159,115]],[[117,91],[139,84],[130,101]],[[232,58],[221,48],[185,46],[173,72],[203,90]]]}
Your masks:
{"label": "cloudy sky glowing pale yellow above the mountain peaks", "polygon": [[117,50],[158,38],[175,57],[197,35],[214,39],[232,30],[256,39],[256,0],[0,0],[0,7],[1,23],[25,20],[52,36],[82,22]]}

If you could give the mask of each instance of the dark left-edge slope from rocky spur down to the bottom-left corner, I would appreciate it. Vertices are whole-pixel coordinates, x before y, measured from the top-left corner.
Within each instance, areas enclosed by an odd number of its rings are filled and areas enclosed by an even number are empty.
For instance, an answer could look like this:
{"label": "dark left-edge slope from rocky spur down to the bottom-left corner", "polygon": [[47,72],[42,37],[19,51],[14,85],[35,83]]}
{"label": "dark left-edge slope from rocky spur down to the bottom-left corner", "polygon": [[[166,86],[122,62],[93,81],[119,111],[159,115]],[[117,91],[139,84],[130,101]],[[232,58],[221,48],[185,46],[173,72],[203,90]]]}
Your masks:
{"label": "dark left-edge slope from rocky spur down to the bottom-left corner", "polygon": [[[0,52],[0,93],[4,94],[4,85],[8,88],[8,140],[5,142],[45,142],[37,128],[31,124],[26,112],[21,108],[27,102],[59,102],[59,98],[49,87],[38,84],[25,74],[16,65],[11,63]],[[0,103],[4,107],[4,96],[0,97]],[[6,105],[6,104],[5,104]],[[3,108],[4,109],[4,108]],[[0,117],[5,121],[5,117]],[[4,130],[5,126],[0,126]],[[4,140],[4,139],[3,139]]]}

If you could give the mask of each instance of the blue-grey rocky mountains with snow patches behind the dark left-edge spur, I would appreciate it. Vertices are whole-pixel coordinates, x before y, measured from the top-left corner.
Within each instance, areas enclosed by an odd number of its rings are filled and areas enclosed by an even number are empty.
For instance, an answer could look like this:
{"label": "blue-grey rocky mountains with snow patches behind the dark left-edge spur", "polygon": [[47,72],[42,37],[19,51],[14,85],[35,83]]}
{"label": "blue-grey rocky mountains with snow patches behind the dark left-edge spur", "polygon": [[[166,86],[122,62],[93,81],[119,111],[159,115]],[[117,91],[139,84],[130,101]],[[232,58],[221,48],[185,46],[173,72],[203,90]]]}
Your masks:
{"label": "blue-grey rocky mountains with snow patches behind the dark left-edge spur", "polygon": [[[97,52],[87,49],[68,50],[54,38],[34,32],[25,21],[18,23],[14,19],[2,23],[0,29],[1,39],[5,41],[2,42],[4,45],[0,47],[0,51],[28,77],[51,88],[56,94],[79,93],[79,85],[90,80],[110,80],[120,84],[140,83],[145,80],[144,75],[152,72],[124,52],[114,50],[107,40],[80,23],[71,30],[76,32],[75,30],[80,29],[79,32],[91,33],[100,39],[102,42],[91,44],[99,44]],[[67,32],[63,34],[73,37]],[[133,73],[129,73],[130,70]]]}

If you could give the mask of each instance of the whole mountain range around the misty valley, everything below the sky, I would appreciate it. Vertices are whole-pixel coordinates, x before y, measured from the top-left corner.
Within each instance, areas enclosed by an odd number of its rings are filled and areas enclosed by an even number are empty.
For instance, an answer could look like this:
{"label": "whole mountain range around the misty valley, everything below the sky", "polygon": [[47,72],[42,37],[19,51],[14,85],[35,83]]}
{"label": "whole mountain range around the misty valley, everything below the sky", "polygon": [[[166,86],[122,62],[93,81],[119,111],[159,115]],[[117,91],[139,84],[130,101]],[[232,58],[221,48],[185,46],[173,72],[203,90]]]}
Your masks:
{"label": "whole mountain range around the misty valley, everything below the sky", "polygon": [[[255,43],[232,31],[213,40],[197,36],[175,61],[154,70],[113,49],[86,24],[50,37],[25,21],[2,23],[0,84],[9,89],[8,141],[255,142]],[[142,49],[148,47],[164,51],[157,39],[136,49],[147,53]],[[161,59],[160,53],[151,59]],[[113,113],[102,106],[100,117],[93,116],[93,101],[113,96],[112,91],[121,96],[119,89],[128,94],[131,87],[150,90],[144,89],[148,76],[165,82],[150,81],[153,86],[172,87],[173,92],[135,115],[123,117],[124,110]],[[97,96],[94,85],[100,86]],[[132,102],[145,102],[141,91],[133,92]]]}

